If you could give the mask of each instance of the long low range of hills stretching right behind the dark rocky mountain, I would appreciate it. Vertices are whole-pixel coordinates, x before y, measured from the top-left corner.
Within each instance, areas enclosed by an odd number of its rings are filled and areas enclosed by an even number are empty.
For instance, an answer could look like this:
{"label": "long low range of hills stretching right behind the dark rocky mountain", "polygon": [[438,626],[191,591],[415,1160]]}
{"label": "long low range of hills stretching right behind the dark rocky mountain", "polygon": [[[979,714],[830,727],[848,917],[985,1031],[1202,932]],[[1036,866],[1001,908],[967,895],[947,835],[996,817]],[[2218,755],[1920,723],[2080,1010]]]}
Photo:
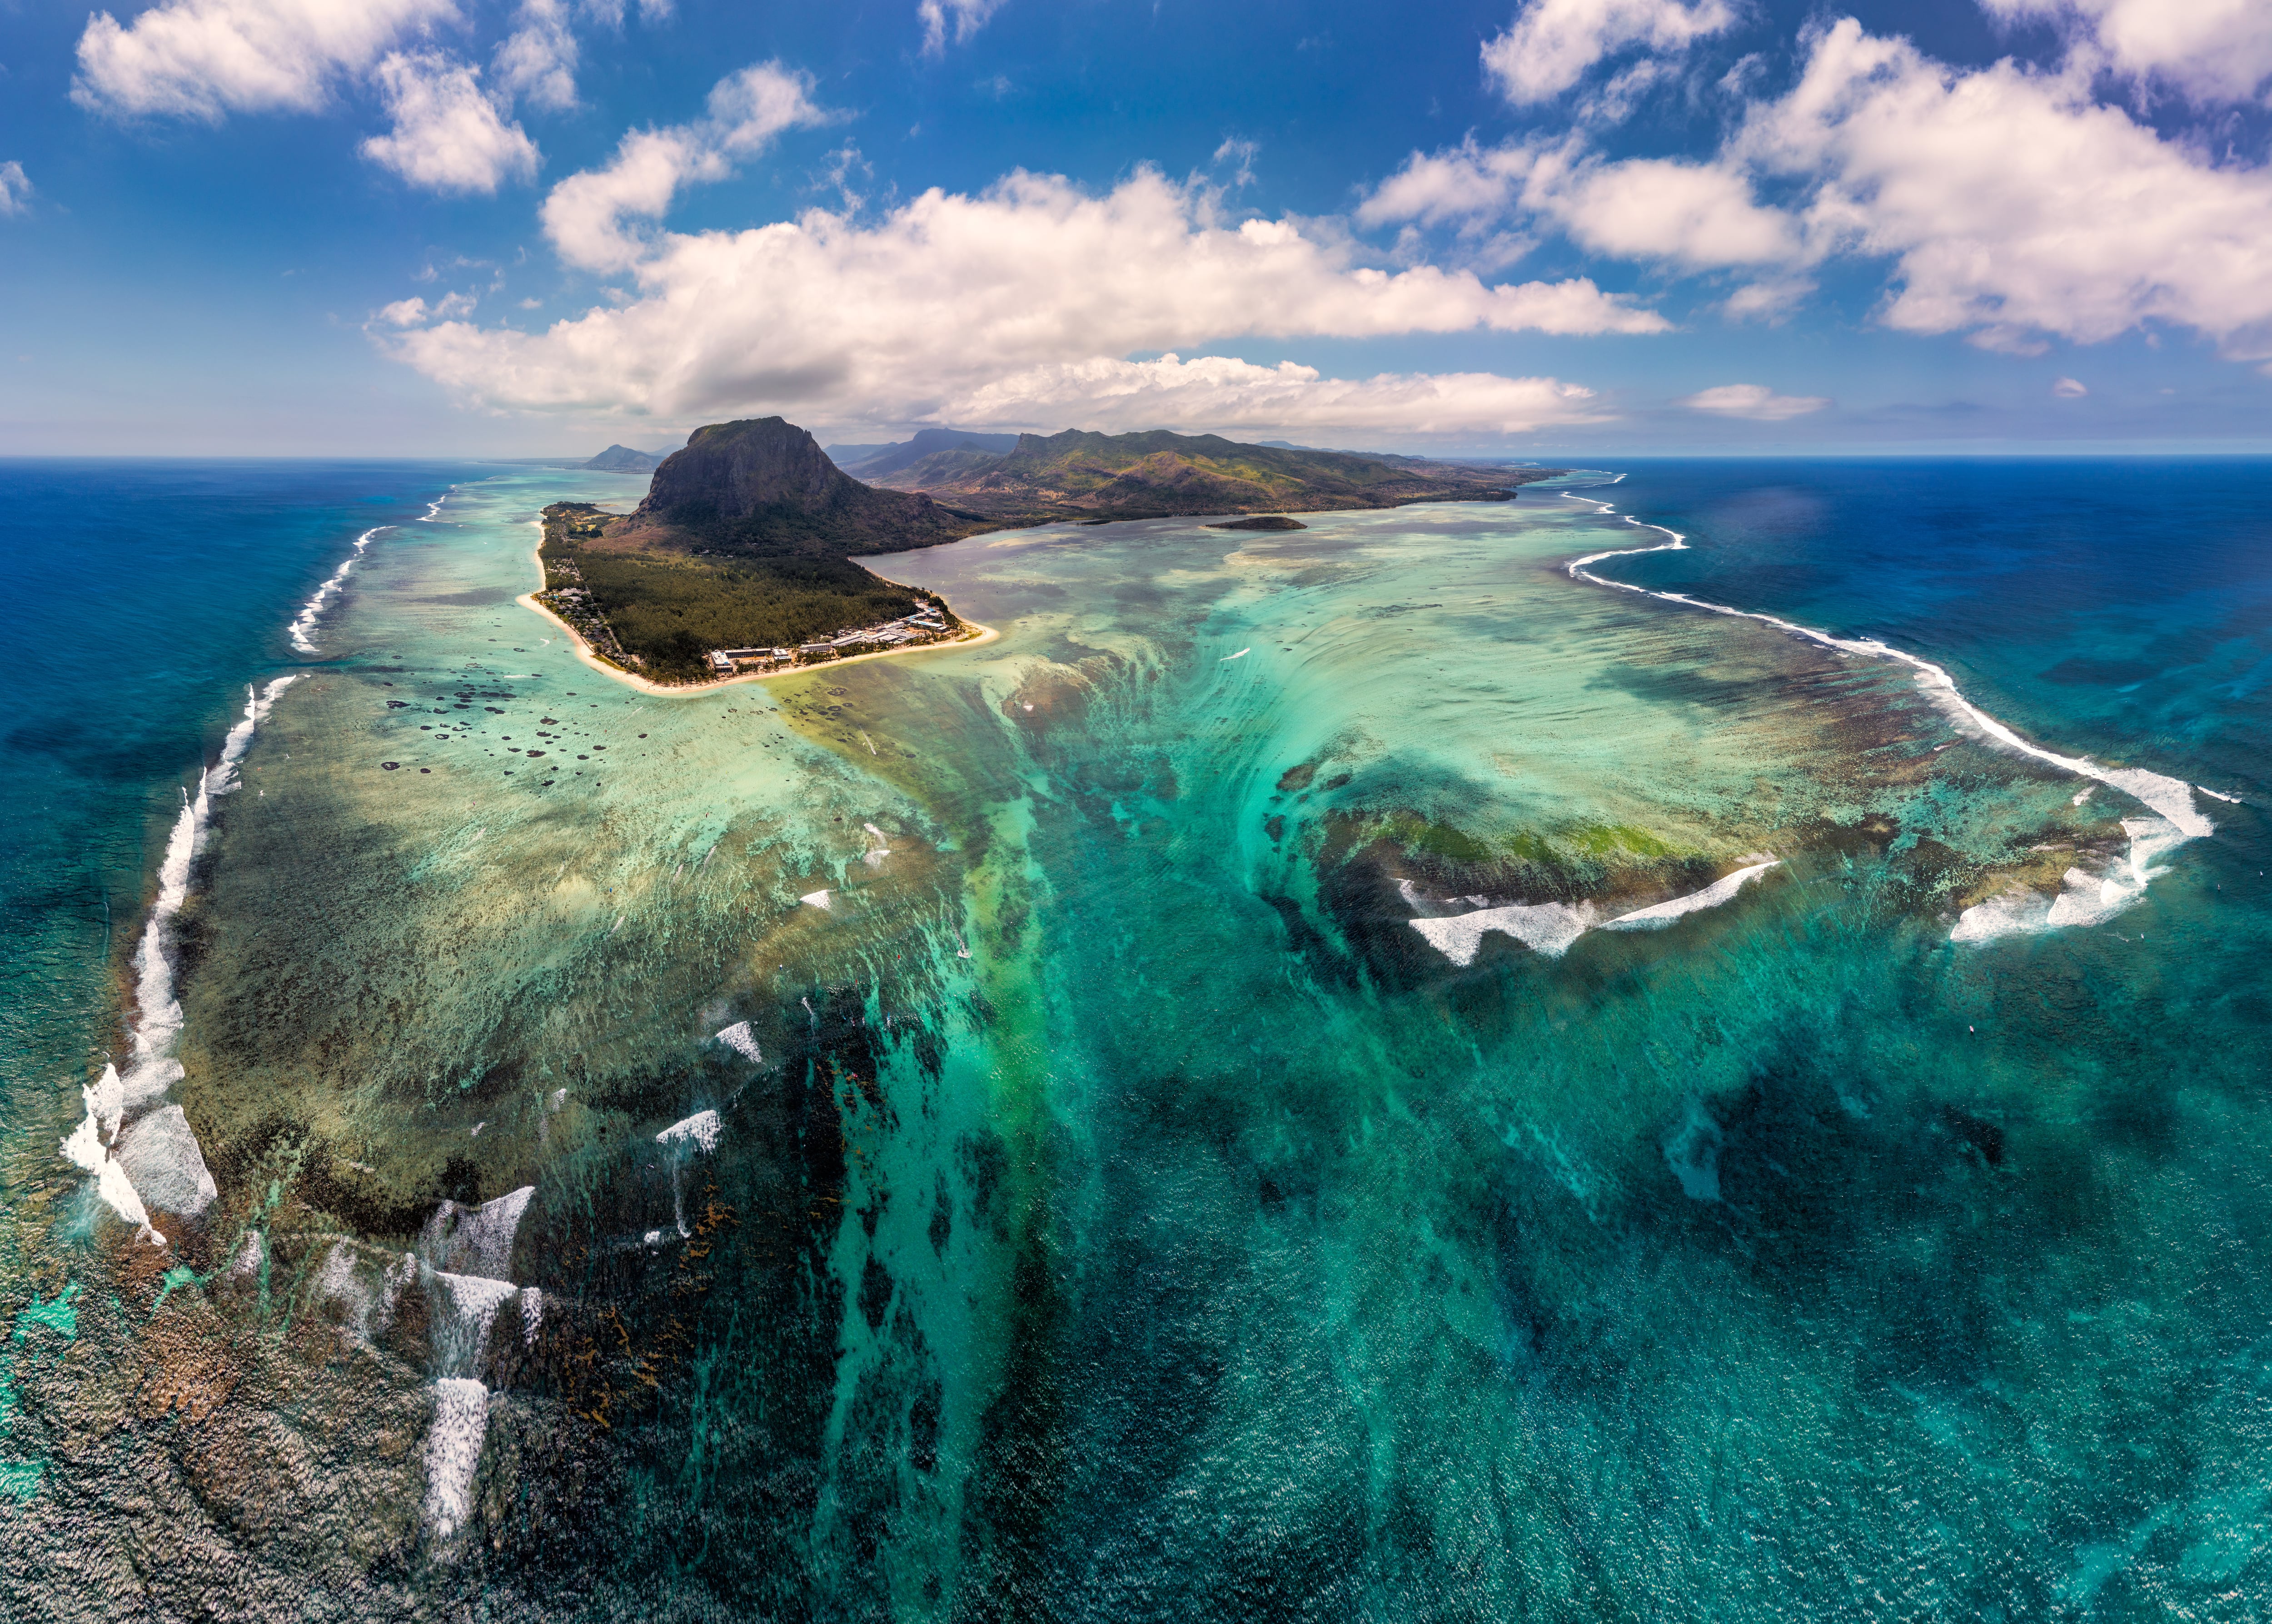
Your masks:
{"label": "long low range of hills stretching right behind the dark rocky mountain", "polygon": [[1000,457],[941,450],[870,477],[900,491],[952,500],[959,509],[1002,522],[1038,522],[1488,502],[1550,472],[1386,452],[1241,445],[1220,434],[1066,429],[1052,436],[1020,434]]}

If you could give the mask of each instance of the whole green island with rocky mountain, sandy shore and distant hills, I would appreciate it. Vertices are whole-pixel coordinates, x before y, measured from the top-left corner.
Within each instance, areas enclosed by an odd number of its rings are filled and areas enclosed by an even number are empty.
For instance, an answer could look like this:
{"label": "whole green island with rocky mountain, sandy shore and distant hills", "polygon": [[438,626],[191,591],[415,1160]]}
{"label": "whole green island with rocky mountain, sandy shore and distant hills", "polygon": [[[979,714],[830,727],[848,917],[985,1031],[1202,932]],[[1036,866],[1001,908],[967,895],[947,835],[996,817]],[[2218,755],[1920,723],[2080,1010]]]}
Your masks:
{"label": "whole green island with rocky mountain, sandy shore and distant hills", "polygon": [[[1027,525],[1263,509],[1270,516],[1252,527],[1297,529],[1284,511],[1504,502],[1556,472],[1166,429],[1022,434],[995,450],[1004,438],[886,445],[854,463],[875,472],[877,484],[863,484],[793,422],[713,422],[654,468],[632,513],[548,507],[545,584],[532,602],[627,675],[707,684],[979,634],[943,597],[888,581],[854,556]],[[623,447],[602,457],[613,452]]]}

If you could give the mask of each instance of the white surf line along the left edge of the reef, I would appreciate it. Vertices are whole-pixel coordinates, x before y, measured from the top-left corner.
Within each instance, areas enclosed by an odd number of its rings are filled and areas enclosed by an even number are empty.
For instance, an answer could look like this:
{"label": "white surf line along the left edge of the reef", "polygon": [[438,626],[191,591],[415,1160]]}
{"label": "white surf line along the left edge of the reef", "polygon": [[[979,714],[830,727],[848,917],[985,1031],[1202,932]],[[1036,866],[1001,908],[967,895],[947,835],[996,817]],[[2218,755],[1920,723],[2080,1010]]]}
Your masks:
{"label": "white surf line along the left edge of the reef", "polygon": [[[105,1065],[93,1088],[80,1088],[86,1117],[61,1142],[68,1161],[95,1174],[95,1190],[134,1233],[152,1245],[166,1238],[150,1227],[150,1211],[136,1186],[168,1190],[173,1211],[195,1215],[218,1195],[198,1140],[179,1122],[179,1106],[143,1111],[182,1079],[173,1045],[182,1036],[182,1004],[175,999],[173,920],[189,902],[189,865],[198,856],[204,829],[214,815],[214,797],[236,788],[236,763],[252,747],[268,709],[300,675],[277,677],[266,688],[245,690],[245,713],[220,740],[220,759],[200,768],[198,793],[182,795],[182,815],[166,838],[166,856],[157,868],[157,902],[134,949],[134,1018],[127,1022],[132,1056],[120,1077],[118,1065]],[[143,1124],[150,1124],[148,1131]]]}

